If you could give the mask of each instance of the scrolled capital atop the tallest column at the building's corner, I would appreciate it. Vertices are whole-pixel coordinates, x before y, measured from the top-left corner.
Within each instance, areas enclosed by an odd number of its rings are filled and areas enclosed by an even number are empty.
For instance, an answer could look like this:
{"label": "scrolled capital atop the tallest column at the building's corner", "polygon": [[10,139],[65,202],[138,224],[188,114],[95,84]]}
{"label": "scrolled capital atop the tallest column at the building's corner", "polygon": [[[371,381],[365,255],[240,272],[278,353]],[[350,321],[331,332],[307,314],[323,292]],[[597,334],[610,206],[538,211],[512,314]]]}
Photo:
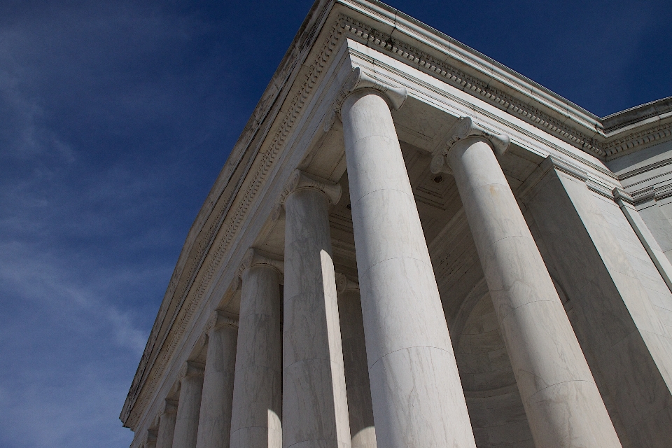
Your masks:
{"label": "scrolled capital atop the tallest column at the building's corner", "polygon": [[335,101],[334,107],[324,123],[324,132],[328,132],[334,125],[336,118],[341,116],[341,107],[350,94],[359,90],[370,89],[381,93],[391,109],[398,111],[406,102],[408,92],[406,87],[395,87],[377,80],[367,73],[364,73],[359,67],[355,67],[350,72],[348,78],[343,83],[343,87]]}

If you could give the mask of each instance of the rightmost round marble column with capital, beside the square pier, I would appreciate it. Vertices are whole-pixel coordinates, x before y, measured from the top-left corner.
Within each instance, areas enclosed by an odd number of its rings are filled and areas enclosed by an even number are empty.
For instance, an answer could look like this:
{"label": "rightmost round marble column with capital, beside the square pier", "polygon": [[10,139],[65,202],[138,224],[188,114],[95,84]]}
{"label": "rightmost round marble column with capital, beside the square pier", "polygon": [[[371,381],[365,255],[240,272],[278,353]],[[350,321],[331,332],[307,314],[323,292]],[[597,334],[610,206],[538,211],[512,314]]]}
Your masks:
{"label": "rightmost round marble column with capital, beside the square pier", "polygon": [[[490,290],[535,446],[620,447],[535,241],[494,151],[508,137],[470,118],[445,156]],[[433,171],[441,165],[435,156]]]}

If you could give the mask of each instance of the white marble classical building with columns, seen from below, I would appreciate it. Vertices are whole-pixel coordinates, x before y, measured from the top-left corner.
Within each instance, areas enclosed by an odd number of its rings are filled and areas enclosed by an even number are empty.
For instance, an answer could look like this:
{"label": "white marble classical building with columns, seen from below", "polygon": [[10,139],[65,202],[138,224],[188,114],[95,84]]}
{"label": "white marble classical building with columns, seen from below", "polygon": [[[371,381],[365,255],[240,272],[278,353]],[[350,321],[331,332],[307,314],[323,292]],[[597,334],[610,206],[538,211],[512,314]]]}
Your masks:
{"label": "white marble classical building with columns, seen from below", "polygon": [[672,99],[598,118],[318,0],[199,212],[132,448],[669,448]]}

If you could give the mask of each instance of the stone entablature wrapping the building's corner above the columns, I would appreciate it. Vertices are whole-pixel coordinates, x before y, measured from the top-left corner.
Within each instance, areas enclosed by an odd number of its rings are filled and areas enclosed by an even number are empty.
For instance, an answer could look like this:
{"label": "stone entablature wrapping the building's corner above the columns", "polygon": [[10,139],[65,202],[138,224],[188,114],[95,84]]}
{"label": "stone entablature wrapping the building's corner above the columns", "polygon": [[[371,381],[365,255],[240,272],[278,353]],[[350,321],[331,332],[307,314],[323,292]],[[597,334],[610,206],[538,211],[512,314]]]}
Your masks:
{"label": "stone entablature wrapping the building's corner above the columns", "polygon": [[[284,222],[276,204],[297,188],[323,191],[332,207],[339,202],[335,190],[341,188],[344,157],[325,161],[325,153],[343,152],[337,137],[346,126],[342,108],[355,91],[384,99],[399,139],[414,144],[422,157],[433,156],[435,174],[452,174],[450,151],[463,141],[489,141],[500,157],[512,148],[514,155],[501,163],[523,204],[552,171],[612,203],[666,197],[664,188],[626,193],[621,181],[635,174],[617,175],[606,162],[671,137],[667,100],[624,111],[622,119],[605,118],[605,132],[600,118],[391,8],[318,1],[190,230],[121,415],[125,426],[154,428],[154,414],[177,398],[176,366],[204,361],[197,357],[204,356],[198,353],[207,344],[208,317],[216,310],[239,311],[243,269],[260,263],[283,272],[281,257],[271,255],[282,251],[276,243],[246,254],[263,239],[273,240]],[[525,162],[507,167],[514,157]],[[388,160],[381,155],[379,162]]]}

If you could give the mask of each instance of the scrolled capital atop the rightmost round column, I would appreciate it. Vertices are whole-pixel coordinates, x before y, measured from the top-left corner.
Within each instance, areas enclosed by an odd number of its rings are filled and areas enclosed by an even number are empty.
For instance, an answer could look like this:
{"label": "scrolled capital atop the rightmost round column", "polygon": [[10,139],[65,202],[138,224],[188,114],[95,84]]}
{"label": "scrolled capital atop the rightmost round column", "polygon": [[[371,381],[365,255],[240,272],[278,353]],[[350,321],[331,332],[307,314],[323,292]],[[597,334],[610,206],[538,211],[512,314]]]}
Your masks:
{"label": "scrolled capital atop the rightmost round column", "polygon": [[461,117],[448,134],[450,137],[446,143],[447,148],[443,151],[435,152],[432,157],[430,170],[433,174],[452,174],[447,156],[451,148],[460,140],[468,139],[469,137],[482,137],[489,142],[497,155],[503,155],[511,143],[511,139],[507,134],[490,132],[476,123],[471,117]]}

